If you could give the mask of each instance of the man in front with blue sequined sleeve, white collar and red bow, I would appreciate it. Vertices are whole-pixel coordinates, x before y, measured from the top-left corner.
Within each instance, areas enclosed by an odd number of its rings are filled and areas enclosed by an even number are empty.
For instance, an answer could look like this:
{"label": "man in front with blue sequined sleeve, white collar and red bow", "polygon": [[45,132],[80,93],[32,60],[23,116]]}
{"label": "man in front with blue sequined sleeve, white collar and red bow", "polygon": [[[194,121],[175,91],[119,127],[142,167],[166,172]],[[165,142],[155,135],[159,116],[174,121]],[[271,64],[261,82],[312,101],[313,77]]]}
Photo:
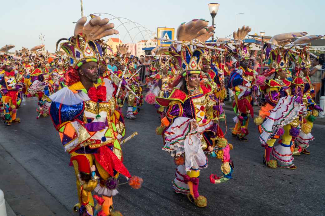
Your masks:
{"label": "man in front with blue sequined sleeve, white collar and red bow", "polygon": [[[115,110],[116,89],[107,78],[96,84],[102,58],[100,38],[118,32],[108,19],[91,17],[87,24],[87,18],[82,17],[74,36],[57,42],[58,46],[67,40],[60,48],[67,53],[70,67],[66,72],[67,87],[50,96],[50,115],[75,170],[79,203],[74,209],[79,209],[80,215],[121,215],[112,206],[119,174],[130,178],[129,185],[134,188],[141,187],[142,179],[131,178],[123,165],[120,141],[125,127],[123,116]],[[95,209],[92,191],[101,196],[94,196],[98,201]]]}

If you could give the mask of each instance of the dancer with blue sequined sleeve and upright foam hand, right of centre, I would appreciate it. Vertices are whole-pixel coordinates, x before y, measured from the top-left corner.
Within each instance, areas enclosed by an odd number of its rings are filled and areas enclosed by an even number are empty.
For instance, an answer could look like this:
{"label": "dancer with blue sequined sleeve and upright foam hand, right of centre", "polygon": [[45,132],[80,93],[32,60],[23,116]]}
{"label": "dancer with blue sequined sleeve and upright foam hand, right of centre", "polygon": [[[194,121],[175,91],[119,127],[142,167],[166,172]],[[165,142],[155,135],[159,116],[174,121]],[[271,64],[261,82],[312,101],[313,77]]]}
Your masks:
{"label": "dancer with blue sequined sleeve and upright foam hand, right of centre", "polygon": [[[243,26],[233,33],[235,40],[244,39],[244,37],[251,31],[249,26]],[[237,136],[240,141],[247,142],[248,139],[248,122],[249,115],[254,116],[252,92],[257,91],[254,86],[254,81],[257,73],[252,71],[249,66],[250,45],[245,45],[243,42],[237,42],[236,54],[239,58],[238,67],[230,74],[228,87],[232,88],[234,92],[234,111],[237,116],[234,118],[236,122],[235,128],[232,130],[232,135]]]}

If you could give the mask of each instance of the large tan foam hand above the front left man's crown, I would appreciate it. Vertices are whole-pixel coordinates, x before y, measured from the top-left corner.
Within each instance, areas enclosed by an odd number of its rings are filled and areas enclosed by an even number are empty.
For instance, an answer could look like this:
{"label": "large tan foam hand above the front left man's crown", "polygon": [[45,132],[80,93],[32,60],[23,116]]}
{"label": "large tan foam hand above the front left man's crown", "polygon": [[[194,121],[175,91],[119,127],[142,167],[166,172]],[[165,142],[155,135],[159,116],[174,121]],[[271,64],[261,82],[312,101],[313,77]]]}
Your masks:
{"label": "large tan foam hand above the front left man's crown", "polygon": [[94,16],[91,14],[91,20],[87,24],[87,18],[80,18],[76,26],[74,27],[74,36],[77,34],[83,34],[87,37],[88,40],[97,40],[103,38],[105,36],[109,36],[112,34],[119,34],[119,32],[114,28],[113,23],[109,23],[109,19],[100,19],[98,16]]}

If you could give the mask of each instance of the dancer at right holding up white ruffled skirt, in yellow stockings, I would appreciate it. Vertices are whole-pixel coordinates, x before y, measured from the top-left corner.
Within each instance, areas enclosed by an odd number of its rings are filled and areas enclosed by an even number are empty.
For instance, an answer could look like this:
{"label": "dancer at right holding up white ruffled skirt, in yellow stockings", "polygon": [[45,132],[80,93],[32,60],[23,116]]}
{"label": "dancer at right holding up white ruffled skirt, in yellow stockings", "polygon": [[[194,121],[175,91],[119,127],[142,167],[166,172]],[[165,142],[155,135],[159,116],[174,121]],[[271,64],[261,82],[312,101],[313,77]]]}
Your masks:
{"label": "dancer at right holding up white ruffled skirt, in yellow stockings", "polygon": [[[276,45],[286,44],[292,37],[304,36],[306,33],[287,33],[275,35],[271,42]],[[294,36],[293,36],[294,35]],[[260,115],[266,115],[264,122],[261,124],[260,142],[265,146],[265,164],[270,168],[296,169],[293,164],[292,140],[299,134],[299,122],[301,122],[307,110],[303,104],[304,87],[301,80],[297,77],[292,81],[289,72],[286,70],[288,63],[288,52],[295,53],[292,50],[275,49],[270,52],[271,67],[266,71],[269,75],[270,88],[267,91],[266,99],[269,106],[274,106],[267,113],[267,104],[262,107]],[[269,73],[269,74],[267,74]],[[285,74],[287,77],[285,78]],[[272,79],[275,75],[278,78]],[[289,83],[292,81],[291,83]],[[266,88],[267,90],[267,88]],[[265,109],[264,113],[262,112]],[[267,116],[268,115],[268,116]],[[278,135],[278,136],[277,136]],[[273,146],[276,138],[281,136],[280,145]],[[272,147],[273,146],[273,147]],[[269,159],[271,150],[272,156],[276,163]]]}

